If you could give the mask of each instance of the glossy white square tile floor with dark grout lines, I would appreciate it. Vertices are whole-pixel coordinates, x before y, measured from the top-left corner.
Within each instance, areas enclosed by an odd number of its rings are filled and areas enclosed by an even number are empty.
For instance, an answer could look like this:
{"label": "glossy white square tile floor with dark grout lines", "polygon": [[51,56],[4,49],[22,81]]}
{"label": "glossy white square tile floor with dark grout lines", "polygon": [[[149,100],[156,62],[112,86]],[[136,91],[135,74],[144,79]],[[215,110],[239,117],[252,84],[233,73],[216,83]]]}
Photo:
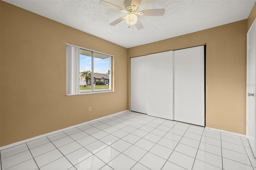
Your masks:
{"label": "glossy white square tile floor with dark grout lines", "polygon": [[256,170],[244,137],[129,111],[0,156],[0,170]]}

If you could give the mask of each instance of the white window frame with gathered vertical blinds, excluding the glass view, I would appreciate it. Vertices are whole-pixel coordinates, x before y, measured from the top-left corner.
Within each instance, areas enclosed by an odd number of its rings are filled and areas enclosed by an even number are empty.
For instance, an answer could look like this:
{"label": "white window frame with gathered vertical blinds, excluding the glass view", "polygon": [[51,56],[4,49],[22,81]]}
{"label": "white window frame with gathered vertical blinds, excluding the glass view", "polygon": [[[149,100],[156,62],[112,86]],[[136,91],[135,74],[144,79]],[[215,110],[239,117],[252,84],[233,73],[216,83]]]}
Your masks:
{"label": "white window frame with gathered vertical blinds, excluding the glass view", "polygon": [[[73,48],[74,47],[74,48]],[[68,49],[69,48],[69,49]],[[77,49],[78,48],[78,49]],[[80,49],[92,52],[92,70],[91,70],[91,91],[80,92],[79,90],[79,81],[80,81]],[[74,51],[72,51],[74,50]],[[77,50],[77,51],[76,51]],[[78,55],[77,55],[78,53]],[[109,89],[94,89],[94,53],[106,55],[109,57],[109,80],[108,85]],[[92,93],[107,93],[114,92],[113,90],[113,74],[112,74],[112,65],[113,65],[114,55],[102,53],[92,49],[87,49],[77,45],[66,43],[66,96],[70,95],[84,95]],[[77,87],[78,86],[78,87]]]}

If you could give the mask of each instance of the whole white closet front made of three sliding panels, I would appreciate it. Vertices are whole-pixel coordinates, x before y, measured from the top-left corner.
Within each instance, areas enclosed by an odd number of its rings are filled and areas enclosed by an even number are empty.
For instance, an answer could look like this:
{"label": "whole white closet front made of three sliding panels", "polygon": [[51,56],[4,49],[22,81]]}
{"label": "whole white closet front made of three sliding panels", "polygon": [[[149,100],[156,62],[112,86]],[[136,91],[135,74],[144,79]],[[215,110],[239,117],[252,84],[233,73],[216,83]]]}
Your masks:
{"label": "whole white closet front made of three sliding panels", "polygon": [[130,59],[130,109],[205,126],[204,45]]}

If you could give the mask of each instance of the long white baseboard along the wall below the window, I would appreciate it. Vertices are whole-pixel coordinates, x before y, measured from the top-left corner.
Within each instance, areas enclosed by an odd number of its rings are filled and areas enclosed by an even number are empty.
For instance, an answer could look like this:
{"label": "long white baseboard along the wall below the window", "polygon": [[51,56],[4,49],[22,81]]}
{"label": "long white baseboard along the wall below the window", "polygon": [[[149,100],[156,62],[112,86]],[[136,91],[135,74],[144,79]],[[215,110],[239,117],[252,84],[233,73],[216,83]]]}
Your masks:
{"label": "long white baseboard along the wall below the window", "polygon": [[94,119],[94,120],[92,120],[92,121],[80,123],[80,124],[74,125],[74,126],[72,126],[72,127],[63,128],[63,129],[60,129],[60,130],[56,130],[56,131],[54,131],[54,132],[42,134],[42,135],[39,135],[39,136],[36,136],[36,137],[33,137],[33,138],[29,138],[29,139],[26,139],[26,140],[22,140],[22,141],[19,141],[19,142],[15,142],[15,143],[12,143],[12,144],[8,144],[8,145],[6,145],[6,146],[0,147],[0,150],[4,150],[4,149],[7,149],[7,148],[10,148],[10,147],[19,145],[19,144],[23,144],[23,143],[26,143],[26,142],[30,142],[30,141],[32,141],[32,140],[36,140],[36,139],[39,139],[39,138],[42,138],[42,137],[45,137],[45,136],[49,136],[49,135],[54,134],[54,133],[62,132],[62,131],[64,131],[64,130],[68,130],[68,129],[71,129],[71,128],[74,128],[74,127],[79,127],[79,126],[85,125],[85,124],[87,124],[87,123],[94,122],[94,121],[97,121],[97,120],[100,120],[100,119],[104,119],[104,118],[107,118],[107,117],[110,117],[110,116],[118,115],[118,114],[124,113],[124,112],[126,112],[126,111],[129,111],[129,110],[121,111],[121,112],[118,112],[118,113],[114,113],[114,114],[112,114],[112,115],[108,115],[108,116],[100,117],[100,118],[98,118],[98,119]]}

